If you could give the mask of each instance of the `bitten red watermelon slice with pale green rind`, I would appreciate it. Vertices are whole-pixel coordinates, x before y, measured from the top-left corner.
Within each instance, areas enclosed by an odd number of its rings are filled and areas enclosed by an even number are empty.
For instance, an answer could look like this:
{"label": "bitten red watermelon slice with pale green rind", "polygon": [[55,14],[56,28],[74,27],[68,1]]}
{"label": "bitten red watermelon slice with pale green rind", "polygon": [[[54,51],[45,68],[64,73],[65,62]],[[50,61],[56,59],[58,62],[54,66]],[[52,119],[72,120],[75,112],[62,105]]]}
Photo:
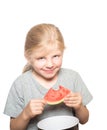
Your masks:
{"label": "bitten red watermelon slice with pale green rind", "polygon": [[46,100],[47,104],[56,105],[63,102],[64,97],[69,93],[70,90],[63,86],[59,86],[58,90],[50,88],[49,91],[44,96],[44,99]]}

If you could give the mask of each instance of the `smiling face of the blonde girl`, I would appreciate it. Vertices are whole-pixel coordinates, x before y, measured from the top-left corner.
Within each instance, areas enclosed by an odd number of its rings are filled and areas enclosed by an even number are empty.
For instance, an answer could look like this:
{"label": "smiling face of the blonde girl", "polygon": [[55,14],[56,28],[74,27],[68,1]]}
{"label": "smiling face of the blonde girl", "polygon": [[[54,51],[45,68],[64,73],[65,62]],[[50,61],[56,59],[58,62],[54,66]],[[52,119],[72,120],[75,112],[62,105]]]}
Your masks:
{"label": "smiling face of the blonde girl", "polygon": [[30,56],[30,64],[36,72],[36,75],[44,79],[52,79],[62,65],[63,52],[58,48],[50,50],[38,49]]}

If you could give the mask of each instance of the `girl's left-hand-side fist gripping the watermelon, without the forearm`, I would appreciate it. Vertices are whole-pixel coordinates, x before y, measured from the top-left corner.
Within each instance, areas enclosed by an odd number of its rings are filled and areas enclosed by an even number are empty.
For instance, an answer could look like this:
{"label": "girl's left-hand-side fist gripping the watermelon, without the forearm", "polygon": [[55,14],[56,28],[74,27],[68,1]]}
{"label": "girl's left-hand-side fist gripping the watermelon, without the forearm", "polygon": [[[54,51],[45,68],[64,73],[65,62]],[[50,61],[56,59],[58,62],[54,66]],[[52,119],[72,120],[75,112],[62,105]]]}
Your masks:
{"label": "girl's left-hand-side fist gripping the watermelon, without the forearm", "polygon": [[45,107],[43,99],[32,99],[24,109],[24,113],[28,119],[35,117],[43,112]]}

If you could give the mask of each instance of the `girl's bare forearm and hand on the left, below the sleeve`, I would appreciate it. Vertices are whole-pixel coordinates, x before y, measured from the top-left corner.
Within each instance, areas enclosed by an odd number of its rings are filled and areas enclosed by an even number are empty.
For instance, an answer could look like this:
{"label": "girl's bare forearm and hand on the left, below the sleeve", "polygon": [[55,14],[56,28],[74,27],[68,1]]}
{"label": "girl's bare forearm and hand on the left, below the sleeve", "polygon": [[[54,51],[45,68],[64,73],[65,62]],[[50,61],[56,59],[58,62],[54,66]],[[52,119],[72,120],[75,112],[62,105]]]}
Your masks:
{"label": "girl's bare forearm and hand on the left, below the sleeve", "polygon": [[10,119],[10,130],[26,130],[29,121],[41,114],[44,106],[44,100],[32,99],[18,117]]}

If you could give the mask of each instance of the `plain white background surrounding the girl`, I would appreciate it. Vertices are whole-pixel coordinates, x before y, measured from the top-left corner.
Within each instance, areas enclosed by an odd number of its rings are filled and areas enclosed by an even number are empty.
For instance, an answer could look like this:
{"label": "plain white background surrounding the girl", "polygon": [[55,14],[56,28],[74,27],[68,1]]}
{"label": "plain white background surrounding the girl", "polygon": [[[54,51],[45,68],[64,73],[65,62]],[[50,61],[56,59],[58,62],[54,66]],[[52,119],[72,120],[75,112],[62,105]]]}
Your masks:
{"label": "plain white background surrounding the girl", "polygon": [[3,114],[8,91],[21,74],[27,31],[53,23],[66,44],[63,67],[78,71],[93,95],[89,122],[81,130],[107,129],[107,3],[106,0],[0,1],[0,130],[9,130]]}

